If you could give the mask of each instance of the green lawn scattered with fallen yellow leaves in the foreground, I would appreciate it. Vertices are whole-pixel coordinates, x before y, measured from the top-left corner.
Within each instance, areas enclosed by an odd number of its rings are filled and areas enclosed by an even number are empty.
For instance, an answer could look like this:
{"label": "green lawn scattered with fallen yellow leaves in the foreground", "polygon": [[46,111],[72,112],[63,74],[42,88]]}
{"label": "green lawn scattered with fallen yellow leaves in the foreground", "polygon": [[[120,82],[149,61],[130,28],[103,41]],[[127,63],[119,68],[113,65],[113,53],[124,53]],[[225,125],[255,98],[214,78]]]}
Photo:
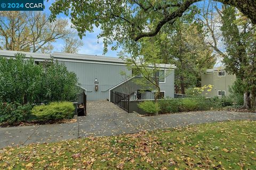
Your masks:
{"label": "green lawn scattered with fallen yellow leaves in the foreground", "polygon": [[0,151],[0,169],[255,169],[256,122],[231,121]]}

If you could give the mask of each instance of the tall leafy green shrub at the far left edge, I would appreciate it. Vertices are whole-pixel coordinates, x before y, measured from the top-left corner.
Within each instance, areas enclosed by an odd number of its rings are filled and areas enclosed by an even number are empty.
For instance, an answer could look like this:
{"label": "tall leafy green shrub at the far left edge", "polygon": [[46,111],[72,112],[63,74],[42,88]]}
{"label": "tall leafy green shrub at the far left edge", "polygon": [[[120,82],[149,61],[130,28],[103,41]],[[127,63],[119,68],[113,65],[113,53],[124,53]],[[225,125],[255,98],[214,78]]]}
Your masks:
{"label": "tall leafy green shrub at the far left edge", "polygon": [[15,59],[0,57],[0,100],[20,104],[33,103],[41,91],[43,69],[25,54],[15,54]]}

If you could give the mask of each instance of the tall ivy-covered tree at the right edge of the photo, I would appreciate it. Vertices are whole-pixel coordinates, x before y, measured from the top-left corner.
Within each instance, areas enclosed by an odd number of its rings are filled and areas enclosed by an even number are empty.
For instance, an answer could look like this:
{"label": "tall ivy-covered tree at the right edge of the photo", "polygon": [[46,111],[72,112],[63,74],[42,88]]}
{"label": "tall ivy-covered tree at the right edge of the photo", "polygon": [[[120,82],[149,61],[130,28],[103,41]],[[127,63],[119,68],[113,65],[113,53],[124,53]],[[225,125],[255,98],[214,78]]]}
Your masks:
{"label": "tall ivy-covered tree at the right edge of the photo", "polygon": [[[227,56],[223,58],[226,70],[242,80],[244,107],[255,106],[255,55],[256,28],[251,21],[234,7],[225,7],[222,12],[221,31],[226,45]],[[253,76],[254,75],[254,76]]]}

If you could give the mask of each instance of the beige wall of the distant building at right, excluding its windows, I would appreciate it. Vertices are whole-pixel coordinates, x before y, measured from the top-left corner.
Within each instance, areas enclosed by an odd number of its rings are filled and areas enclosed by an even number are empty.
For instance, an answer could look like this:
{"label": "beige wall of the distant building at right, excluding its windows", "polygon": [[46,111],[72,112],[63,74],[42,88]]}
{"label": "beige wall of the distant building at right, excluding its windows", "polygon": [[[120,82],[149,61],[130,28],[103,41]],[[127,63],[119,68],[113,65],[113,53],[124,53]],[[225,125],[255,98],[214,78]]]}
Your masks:
{"label": "beige wall of the distant building at right, excluding its windows", "polygon": [[218,96],[218,90],[226,91],[226,96],[230,94],[229,86],[235,82],[236,76],[233,74],[225,74],[223,77],[218,76],[218,71],[213,71],[211,73],[203,73],[201,75],[201,84],[208,86],[209,84],[213,85],[212,91],[203,92],[203,95],[206,97]]}

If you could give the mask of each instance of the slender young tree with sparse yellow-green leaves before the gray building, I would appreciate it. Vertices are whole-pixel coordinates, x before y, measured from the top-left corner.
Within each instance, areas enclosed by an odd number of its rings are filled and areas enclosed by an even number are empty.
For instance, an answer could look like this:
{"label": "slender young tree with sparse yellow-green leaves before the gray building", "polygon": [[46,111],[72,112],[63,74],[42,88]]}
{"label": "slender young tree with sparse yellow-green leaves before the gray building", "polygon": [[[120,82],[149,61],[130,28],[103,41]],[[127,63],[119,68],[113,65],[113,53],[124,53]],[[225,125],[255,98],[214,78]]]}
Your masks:
{"label": "slender young tree with sparse yellow-green leaves before the gray building", "polygon": [[[165,79],[168,72],[161,72],[161,64],[163,60],[160,57],[161,51],[159,48],[158,39],[156,37],[146,38],[141,41],[139,53],[128,53],[124,49],[119,56],[126,61],[127,68],[132,70],[132,76],[140,75],[140,79],[135,79],[135,83],[142,86],[145,90],[156,90],[154,96],[155,106],[158,108],[157,99],[160,94],[159,80]],[[158,114],[158,109],[156,115]]]}

